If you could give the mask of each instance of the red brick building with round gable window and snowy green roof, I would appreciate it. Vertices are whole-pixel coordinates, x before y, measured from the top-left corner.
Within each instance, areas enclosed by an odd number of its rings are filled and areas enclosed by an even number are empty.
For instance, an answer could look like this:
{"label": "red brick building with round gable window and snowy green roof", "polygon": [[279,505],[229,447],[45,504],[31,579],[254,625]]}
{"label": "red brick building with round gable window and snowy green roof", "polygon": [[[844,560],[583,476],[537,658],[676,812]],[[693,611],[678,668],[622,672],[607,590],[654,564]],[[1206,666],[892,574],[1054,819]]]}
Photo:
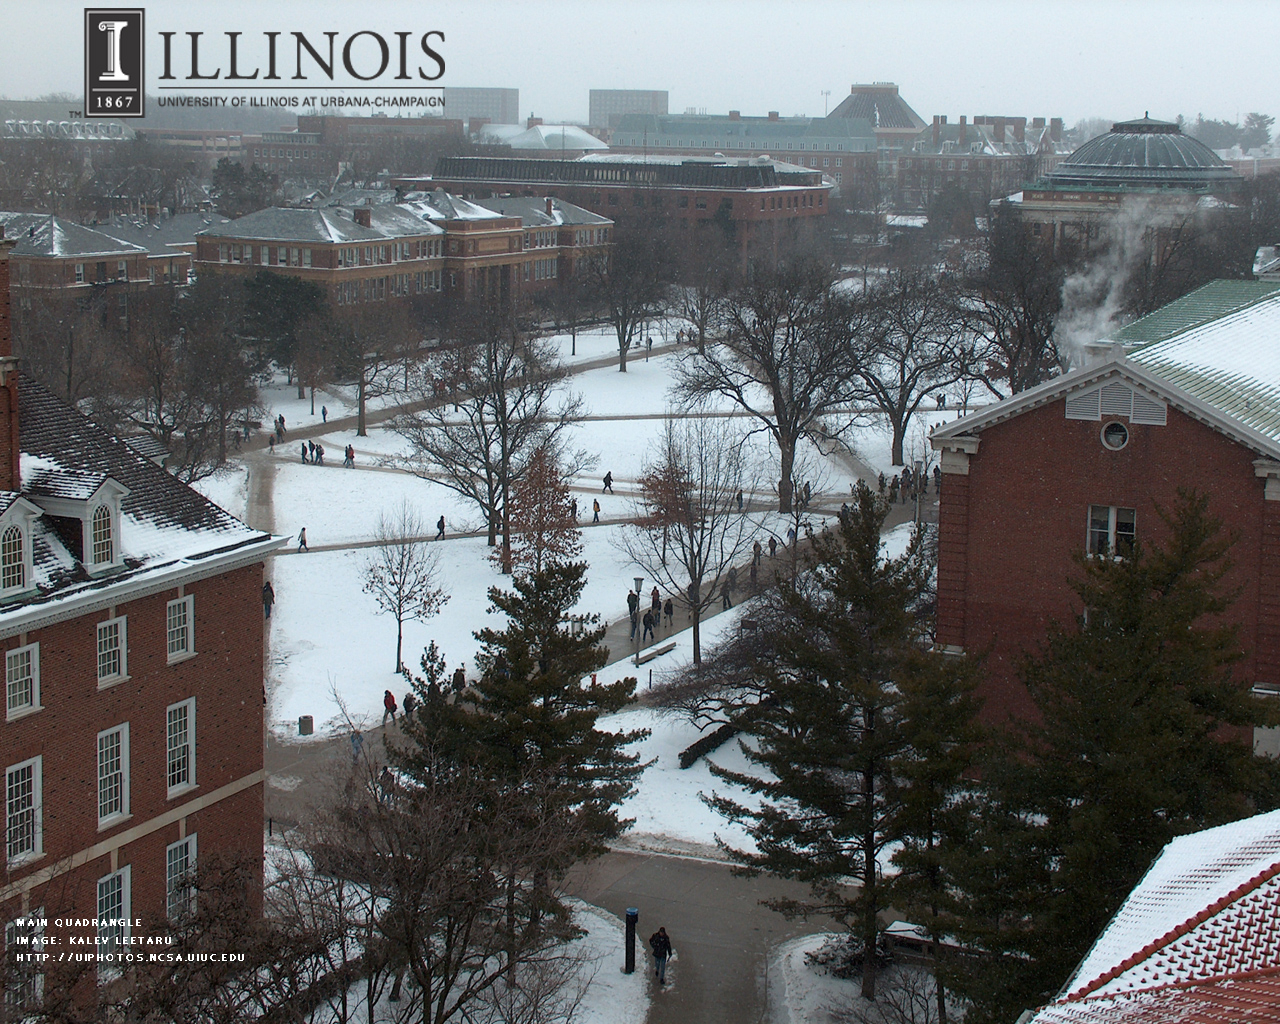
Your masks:
{"label": "red brick building with round gable window and snowy green roof", "polygon": [[[1153,314],[1155,316],[1155,314]],[[1242,684],[1280,690],[1280,296],[948,424],[941,453],[938,643],[988,648],[986,714],[1032,714],[1018,681],[1051,620],[1079,609],[1073,556],[1160,543],[1179,488],[1211,498],[1239,540],[1225,586],[1247,657]],[[1275,737],[1256,736],[1274,745]]]}

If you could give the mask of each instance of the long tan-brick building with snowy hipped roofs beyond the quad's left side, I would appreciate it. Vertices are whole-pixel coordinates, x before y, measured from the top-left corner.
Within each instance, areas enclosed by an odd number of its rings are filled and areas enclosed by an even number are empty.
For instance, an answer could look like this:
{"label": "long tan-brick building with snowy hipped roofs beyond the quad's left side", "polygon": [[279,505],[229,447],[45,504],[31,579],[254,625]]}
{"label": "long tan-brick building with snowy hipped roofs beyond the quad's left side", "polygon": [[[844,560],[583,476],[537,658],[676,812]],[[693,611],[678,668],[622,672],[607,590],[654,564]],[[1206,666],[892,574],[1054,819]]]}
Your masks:
{"label": "long tan-brick building with snowy hipped roofs beyond the quad's left side", "polygon": [[305,278],[338,306],[422,294],[512,301],[607,252],[611,233],[611,220],[564,201],[481,205],[436,189],[399,202],[259,210],[201,232],[196,270]]}

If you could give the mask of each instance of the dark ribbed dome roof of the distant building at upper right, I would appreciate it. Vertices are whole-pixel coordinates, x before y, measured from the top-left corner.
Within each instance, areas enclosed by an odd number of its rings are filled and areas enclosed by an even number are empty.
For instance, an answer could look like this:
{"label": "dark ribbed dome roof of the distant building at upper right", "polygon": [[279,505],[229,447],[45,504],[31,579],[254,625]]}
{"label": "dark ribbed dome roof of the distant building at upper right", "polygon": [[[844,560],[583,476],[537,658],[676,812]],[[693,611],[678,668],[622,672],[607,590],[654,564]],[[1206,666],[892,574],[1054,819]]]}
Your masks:
{"label": "dark ribbed dome roof of the distant building at upper right", "polygon": [[1050,172],[1048,182],[1074,188],[1207,189],[1235,186],[1240,177],[1176,124],[1139,118],[1112,124],[1085,142]]}

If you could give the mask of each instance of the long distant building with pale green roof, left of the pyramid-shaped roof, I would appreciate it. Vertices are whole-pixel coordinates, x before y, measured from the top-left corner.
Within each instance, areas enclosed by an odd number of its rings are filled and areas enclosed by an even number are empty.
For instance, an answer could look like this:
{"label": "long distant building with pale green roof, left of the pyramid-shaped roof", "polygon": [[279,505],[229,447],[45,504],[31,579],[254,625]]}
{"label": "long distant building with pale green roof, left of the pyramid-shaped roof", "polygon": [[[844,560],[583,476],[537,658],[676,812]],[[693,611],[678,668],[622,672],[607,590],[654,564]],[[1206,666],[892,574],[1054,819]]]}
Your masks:
{"label": "long distant building with pale green roof, left of the pyramid-shaped roof", "polygon": [[773,156],[820,170],[837,186],[855,188],[876,175],[877,138],[858,118],[627,114],[609,136],[609,150],[654,156]]}

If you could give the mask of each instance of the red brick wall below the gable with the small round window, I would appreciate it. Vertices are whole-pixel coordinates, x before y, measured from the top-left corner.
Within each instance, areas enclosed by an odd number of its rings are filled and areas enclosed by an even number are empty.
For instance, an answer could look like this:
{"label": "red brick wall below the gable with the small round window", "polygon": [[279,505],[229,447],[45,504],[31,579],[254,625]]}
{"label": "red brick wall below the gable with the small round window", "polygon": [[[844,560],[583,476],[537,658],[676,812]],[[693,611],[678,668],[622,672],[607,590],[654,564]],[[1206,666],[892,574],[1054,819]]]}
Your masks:
{"label": "red brick wall below the gable with the small round window", "polygon": [[[1268,503],[1254,475],[1256,454],[1174,408],[1167,426],[1130,424],[1129,444],[1120,452],[1103,448],[1101,429],[1098,421],[1068,420],[1057,401],[983,430],[969,476],[943,481],[938,639],[974,653],[991,646],[984,684],[991,719],[1033,713],[1018,669],[1024,652],[1038,649],[1051,620],[1068,622],[1078,612],[1069,580],[1079,570],[1071,556],[1085,545],[1091,504],[1135,508],[1139,540],[1160,543],[1167,527],[1157,504],[1171,508],[1179,486],[1208,493],[1212,512],[1239,534],[1231,550],[1235,567],[1225,581],[1240,589],[1230,614],[1249,657],[1239,676],[1253,682],[1261,668],[1271,671],[1280,660],[1274,572],[1260,590],[1260,570],[1268,564],[1262,554]],[[964,479],[968,486],[956,486]],[[1268,512],[1271,530],[1280,532],[1274,516]],[[957,579],[964,580],[963,598]],[[1268,625],[1260,632],[1262,595]],[[1266,648],[1256,652],[1260,640]]]}

